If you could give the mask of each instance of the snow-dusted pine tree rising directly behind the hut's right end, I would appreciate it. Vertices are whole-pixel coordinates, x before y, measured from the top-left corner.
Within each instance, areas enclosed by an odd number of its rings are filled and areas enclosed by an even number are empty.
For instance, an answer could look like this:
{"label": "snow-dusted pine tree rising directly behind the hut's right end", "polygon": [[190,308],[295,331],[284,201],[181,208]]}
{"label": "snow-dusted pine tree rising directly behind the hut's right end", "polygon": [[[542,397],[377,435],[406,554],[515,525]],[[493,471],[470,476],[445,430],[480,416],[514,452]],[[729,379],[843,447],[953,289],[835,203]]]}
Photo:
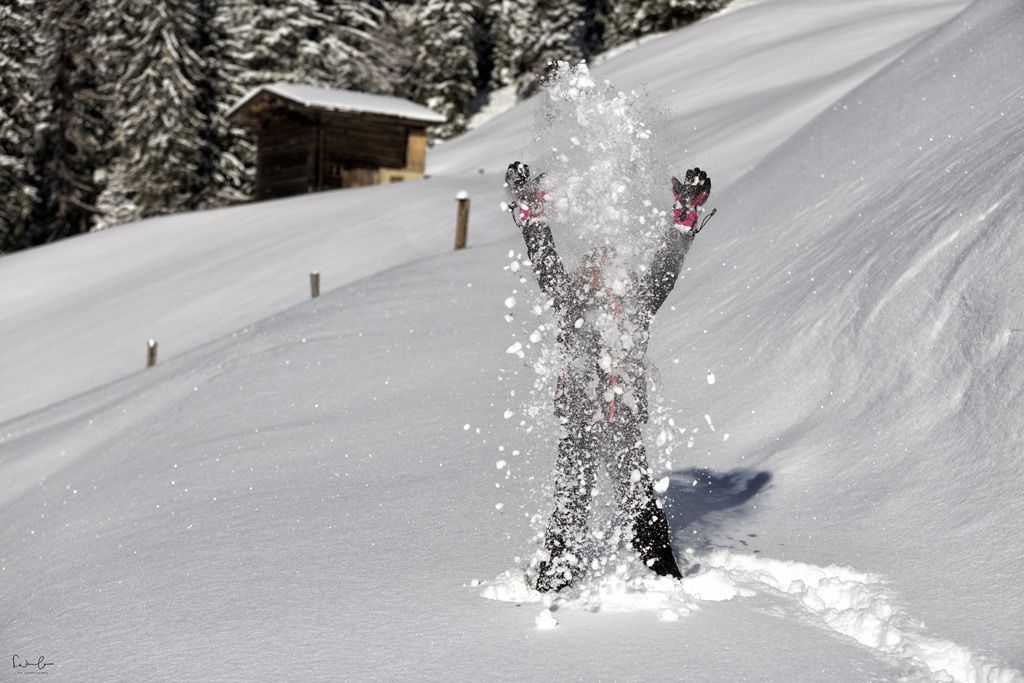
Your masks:
{"label": "snow-dusted pine tree rising directly behind the hut's right end", "polygon": [[469,103],[480,88],[482,17],[476,0],[422,0],[416,6],[411,94],[447,118],[433,129],[438,137],[451,137],[466,127]]}

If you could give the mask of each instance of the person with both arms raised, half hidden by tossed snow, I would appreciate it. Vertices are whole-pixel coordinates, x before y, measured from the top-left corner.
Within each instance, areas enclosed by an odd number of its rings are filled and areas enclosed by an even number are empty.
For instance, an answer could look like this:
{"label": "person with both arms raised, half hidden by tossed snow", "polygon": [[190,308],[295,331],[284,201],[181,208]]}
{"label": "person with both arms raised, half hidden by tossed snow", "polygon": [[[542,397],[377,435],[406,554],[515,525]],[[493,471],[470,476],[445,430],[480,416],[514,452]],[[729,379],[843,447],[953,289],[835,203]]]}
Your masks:
{"label": "person with both arms raised, half hidden by tossed snow", "polygon": [[711,178],[699,168],[687,171],[683,182],[672,178],[673,223],[642,274],[617,271],[611,247],[594,249],[575,270],[566,271],[544,216],[545,193],[538,179],[520,162],[506,173],[513,218],[558,318],[563,358],[555,415],[564,431],[537,589],[559,591],[584,573],[582,550],[599,466],[611,475],[627,540],[640,560],[657,574],[681,578],[640,433],[647,421],[645,355],[651,319],[703,226],[697,225],[697,213],[711,194]]}

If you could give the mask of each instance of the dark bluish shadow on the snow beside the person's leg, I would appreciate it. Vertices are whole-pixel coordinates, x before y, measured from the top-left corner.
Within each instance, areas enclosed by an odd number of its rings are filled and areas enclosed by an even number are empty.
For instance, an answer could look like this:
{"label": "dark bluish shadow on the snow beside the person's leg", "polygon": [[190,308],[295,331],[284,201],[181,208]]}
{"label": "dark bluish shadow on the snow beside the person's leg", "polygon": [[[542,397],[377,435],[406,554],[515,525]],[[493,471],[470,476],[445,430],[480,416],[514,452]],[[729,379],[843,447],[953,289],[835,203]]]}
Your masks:
{"label": "dark bluish shadow on the snow beside the person's leg", "polygon": [[[677,549],[683,544],[683,548],[701,551],[712,547],[732,547],[728,542],[735,541],[750,547],[742,539],[716,538],[719,536],[718,527],[727,518],[726,515],[745,514],[746,504],[770,481],[771,472],[750,469],[713,472],[691,467],[672,472],[669,490],[665,494],[665,510],[675,539],[673,545]],[[726,514],[715,514],[723,512]],[[757,538],[756,533],[745,536]],[[697,569],[699,565],[690,566],[686,573]]]}

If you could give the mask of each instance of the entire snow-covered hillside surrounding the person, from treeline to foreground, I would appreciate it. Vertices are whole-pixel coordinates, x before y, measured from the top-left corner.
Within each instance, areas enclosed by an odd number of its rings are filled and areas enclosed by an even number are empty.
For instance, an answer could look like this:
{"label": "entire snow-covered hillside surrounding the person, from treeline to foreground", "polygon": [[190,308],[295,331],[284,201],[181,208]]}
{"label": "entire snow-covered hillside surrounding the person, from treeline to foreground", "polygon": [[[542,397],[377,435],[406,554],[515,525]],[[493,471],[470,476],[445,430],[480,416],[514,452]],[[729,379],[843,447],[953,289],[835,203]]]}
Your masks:
{"label": "entire snow-covered hillside surrounding the person, from treeline to foreground", "polygon": [[517,426],[504,302],[535,285],[498,205],[536,101],[422,182],[0,258],[3,653],[76,681],[1024,680],[1022,35],[1019,1],[736,0],[595,68],[715,180],[650,348],[680,583],[521,581],[553,457]]}

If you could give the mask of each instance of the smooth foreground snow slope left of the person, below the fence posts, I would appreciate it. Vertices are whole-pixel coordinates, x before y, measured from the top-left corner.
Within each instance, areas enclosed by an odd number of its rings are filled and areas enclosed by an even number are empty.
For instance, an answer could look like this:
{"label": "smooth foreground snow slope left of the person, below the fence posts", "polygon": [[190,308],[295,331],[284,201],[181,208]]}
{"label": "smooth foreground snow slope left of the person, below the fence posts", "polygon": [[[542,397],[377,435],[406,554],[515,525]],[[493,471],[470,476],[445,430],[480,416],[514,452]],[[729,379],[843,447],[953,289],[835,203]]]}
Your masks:
{"label": "smooth foreground snow slope left of the person, below the fence posts", "polygon": [[495,462],[548,469],[501,418],[504,257],[399,268],[6,425],[0,642],[76,680],[891,671],[728,602],[674,624],[562,610],[543,634],[540,606],[469,586],[529,552],[530,502]]}

